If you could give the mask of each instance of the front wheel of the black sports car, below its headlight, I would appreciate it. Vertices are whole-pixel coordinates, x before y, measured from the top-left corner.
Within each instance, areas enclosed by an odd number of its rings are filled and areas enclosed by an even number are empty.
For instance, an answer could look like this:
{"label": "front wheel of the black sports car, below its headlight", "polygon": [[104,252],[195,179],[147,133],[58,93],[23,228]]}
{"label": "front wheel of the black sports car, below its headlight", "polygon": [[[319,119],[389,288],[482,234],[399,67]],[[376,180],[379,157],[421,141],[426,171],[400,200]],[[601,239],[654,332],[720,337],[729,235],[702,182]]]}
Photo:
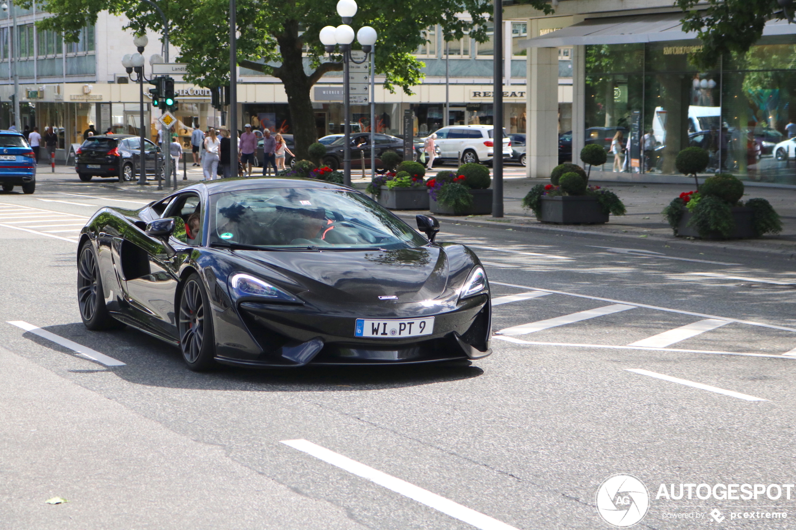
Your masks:
{"label": "front wheel of the black sports car, below its headlight", "polygon": [[216,340],[213,335],[213,310],[210,308],[205,285],[197,273],[182,284],[178,307],[178,331],[182,360],[195,372],[217,366]]}

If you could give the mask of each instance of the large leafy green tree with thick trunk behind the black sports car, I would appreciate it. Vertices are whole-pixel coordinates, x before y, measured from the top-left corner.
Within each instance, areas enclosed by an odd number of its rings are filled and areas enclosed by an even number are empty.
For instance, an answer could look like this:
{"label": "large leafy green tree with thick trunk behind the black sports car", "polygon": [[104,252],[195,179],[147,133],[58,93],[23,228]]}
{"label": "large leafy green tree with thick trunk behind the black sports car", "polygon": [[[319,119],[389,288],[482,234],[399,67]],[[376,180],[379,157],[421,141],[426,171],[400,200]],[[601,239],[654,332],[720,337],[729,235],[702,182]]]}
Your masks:
{"label": "large leafy green tree with thick trunk behind the black sports car", "polygon": [[[180,47],[178,60],[188,64],[185,79],[203,87],[228,83],[229,22],[225,4],[216,0],[155,1],[170,20],[170,39]],[[22,6],[29,6],[33,0],[22,2]],[[528,3],[545,13],[552,12],[543,0]],[[424,64],[412,56],[423,43],[423,29],[439,24],[449,41],[469,32],[470,37],[484,42],[486,21],[493,10],[490,0],[361,0],[358,4],[353,29],[357,31],[363,25],[377,29],[376,70],[385,75],[384,86],[390,91],[398,86],[408,94],[423,79],[420,69]],[[337,62],[341,56],[325,56],[318,40],[323,26],[341,23],[336,6],[336,0],[237,0],[238,64],[283,82],[299,158],[308,156],[307,149],[317,138],[310,89],[327,72],[342,70]],[[39,27],[64,33],[67,41],[76,41],[80,28],[96,23],[97,14],[103,10],[129,18],[126,29],[162,31],[160,17],[139,0],[49,0],[47,10],[53,17],[39,22]],[[457,17],[464,12],[472,20]]]}

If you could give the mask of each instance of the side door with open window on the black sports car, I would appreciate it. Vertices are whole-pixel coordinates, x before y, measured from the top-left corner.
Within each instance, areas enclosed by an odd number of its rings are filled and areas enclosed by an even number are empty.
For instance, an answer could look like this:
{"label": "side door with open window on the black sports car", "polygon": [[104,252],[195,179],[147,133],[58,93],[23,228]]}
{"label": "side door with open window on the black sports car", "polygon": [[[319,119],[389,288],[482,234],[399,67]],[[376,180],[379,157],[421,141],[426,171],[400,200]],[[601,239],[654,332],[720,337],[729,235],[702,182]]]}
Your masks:
{"label": "side door with open window on the black sports car", "polygon": [[[150,238],[140,227],[131,227],[122,250],[123,275],[131,300],[132,316],[153,331],[167,337],[177,337],[177,313],[174,300],[177,293],[180,265],[189,257],[193,246],[201,243],[200,229],[188,238],[185,222],[196,213],[202,219],[201,199],[189,191],[171,201],[164,217],[178,218],[177,228],[169,240],[176,251],[166,253],[166,246],[157,238]],[[127,253],[127,256],[126,256]],[[127,261],[125,258],[127,257]],[[127,265],[125,267],[125,265]]]}

